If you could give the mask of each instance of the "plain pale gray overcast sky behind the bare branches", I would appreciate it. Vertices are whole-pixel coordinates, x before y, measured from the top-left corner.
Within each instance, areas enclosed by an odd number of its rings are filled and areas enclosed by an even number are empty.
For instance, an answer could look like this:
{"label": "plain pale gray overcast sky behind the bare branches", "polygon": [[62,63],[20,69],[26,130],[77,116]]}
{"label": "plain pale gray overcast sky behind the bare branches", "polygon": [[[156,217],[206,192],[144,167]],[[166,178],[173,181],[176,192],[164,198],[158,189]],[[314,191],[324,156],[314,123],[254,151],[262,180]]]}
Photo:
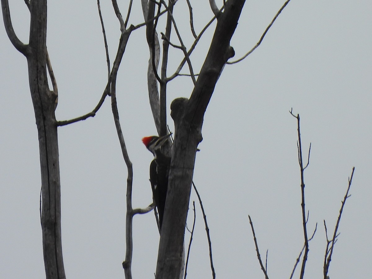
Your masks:
{"label": "plain pale gray overcast sky behind the bare branches", "polygon": [[[14,29],[28,41],[23,1],[11,1]],[[126,14],[126,2],[121,12]],[[129,23],[141,23],[134,1]],[[195,28],[212,17],[208,1],[194,6]],[[205,3],[204,3],[205,2]],[[222,1],[221,1],[222,2]],[[247,1],[231,41],[244,55],[284,0]],[[106,85],[106,57],[95,1],[48,4],[47,45],[58,83],[58,120],[91,111]],[[120,36],[110,1],[101,3],[113,61]],[[268,274],[289,278],[303,246],[296,119],[301,116],[310,242],[305,278],[321,278],[325,250],[323,219],[333,231],[348,177],[355,166],[351,197],[341,219],[331,278],[370,274],[372,140],[372,4],[369,1],[291,1],[256,51],[226,65],[209,103],[194,182],[203,199],[217,278],[264,278],[248,222],[250,214]],[[190,46],[186,1],[174,15]],[[0,27],[0,277],[43,278],[39,220],[38,137],[26,59]],[[158,32],[163,31],[160,23]],[[149,153],[141,142],[156,133],[148,104],[148,47],[144,28],[132,33],[118,74],[121,124],[134,167],[133,206],[151,202]],[[199,71],[214,26],[192,55]],[[177,43],[175,34],[173,42]],[[170,75],[182,57],[171,51]],[[183,73],[186,72],[186,68]],[[187,77],[169,84],[169,103],[190,95]],[[173,122],[169,118],[173,129]],[[123,278],[126,167],[109,99],[94,118],[58,129],[62,192],[62,245],[68,278]],[[210,278],[208,244],[195,192],[196,228],[188,278]],[[366,216],[367,214],[367,216]],[[188,226],[192,226],[190,204]],[[186,242],[189,233],[186,231]],[[153,278],[158,232],[153,212],[134,218],[134,278]],[[299,269],[297,270],[299,272]],[[295,278],[298,277],[298,272]]]}

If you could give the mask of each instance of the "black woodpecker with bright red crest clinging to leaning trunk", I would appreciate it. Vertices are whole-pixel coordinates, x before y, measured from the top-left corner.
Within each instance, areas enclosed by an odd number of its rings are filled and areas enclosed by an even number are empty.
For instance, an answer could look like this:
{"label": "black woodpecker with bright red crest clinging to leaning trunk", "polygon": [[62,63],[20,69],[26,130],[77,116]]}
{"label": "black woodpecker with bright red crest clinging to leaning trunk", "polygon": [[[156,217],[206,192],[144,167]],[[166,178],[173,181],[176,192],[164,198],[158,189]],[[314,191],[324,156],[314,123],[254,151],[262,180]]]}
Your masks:
{"label": "black woodpecker with bright red crest clinging to leaning trunk", "polygon": [[163,223],[164,207],[168,189],[168,175],[171,158],[161,152],[161,146],[168,140],[171,134],[163,137],[144,137],[142,142],[154,155],[150,164],[150,183],[153,190],[153,198],[159,213],[159,226]]}

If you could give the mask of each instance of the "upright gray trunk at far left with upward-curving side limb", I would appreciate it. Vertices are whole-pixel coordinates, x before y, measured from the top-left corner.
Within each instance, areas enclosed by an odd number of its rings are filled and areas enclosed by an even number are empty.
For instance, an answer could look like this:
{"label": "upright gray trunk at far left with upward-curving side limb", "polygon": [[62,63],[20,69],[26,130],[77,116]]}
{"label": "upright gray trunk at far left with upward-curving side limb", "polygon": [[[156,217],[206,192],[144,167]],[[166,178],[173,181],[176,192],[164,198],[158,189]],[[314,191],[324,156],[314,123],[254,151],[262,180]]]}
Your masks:
{"label": "upright gray trunk at far left with upward-curving side limb", "polygon": [[31,13],[30,39],[19,41],[10,21],[7,0],[1,0],[4,25],[10,41],[28,62],[29,84],[38,129],[42,210],[41,227],[45,273],[47,279],[65,278],[61,243],[61,186],[58,158],[55,103],[57,96],[49,90],[47,80],[47,0],[27,3]]}

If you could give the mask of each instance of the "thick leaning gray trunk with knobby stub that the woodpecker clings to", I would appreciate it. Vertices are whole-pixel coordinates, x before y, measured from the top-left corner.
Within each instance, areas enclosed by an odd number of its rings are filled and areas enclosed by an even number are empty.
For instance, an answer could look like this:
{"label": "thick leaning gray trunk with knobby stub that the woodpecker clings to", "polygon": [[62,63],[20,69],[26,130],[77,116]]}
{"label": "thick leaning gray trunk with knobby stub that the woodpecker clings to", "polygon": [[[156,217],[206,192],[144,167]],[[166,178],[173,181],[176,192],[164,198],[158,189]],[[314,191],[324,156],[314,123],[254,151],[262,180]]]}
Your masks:
{"label": "thick leaning gray trunk with knobby stub that the woodpecker clings to", "polygon": [[230,40],[245,0],[229,0],[217,18],[217,26],[190,100],[171,105],[175,124],[173,154],[163,226],[160,235],[157,279],[179,278],[187,209],[189,206],[197,146],[202,140],[203,116],[218,77],[228,58],[234,56]]}

